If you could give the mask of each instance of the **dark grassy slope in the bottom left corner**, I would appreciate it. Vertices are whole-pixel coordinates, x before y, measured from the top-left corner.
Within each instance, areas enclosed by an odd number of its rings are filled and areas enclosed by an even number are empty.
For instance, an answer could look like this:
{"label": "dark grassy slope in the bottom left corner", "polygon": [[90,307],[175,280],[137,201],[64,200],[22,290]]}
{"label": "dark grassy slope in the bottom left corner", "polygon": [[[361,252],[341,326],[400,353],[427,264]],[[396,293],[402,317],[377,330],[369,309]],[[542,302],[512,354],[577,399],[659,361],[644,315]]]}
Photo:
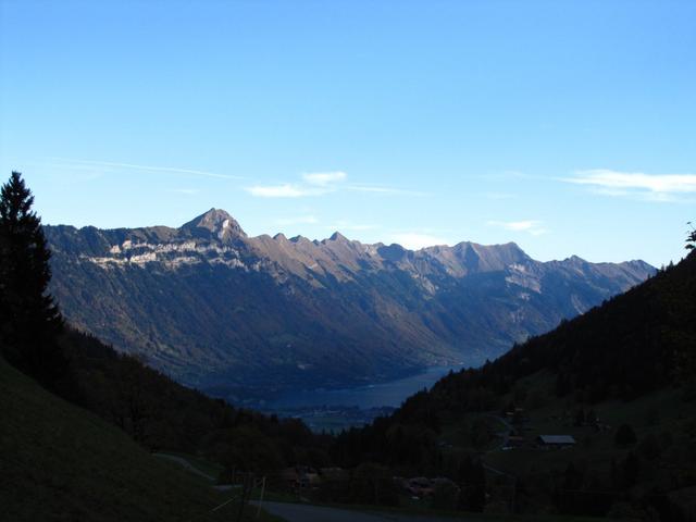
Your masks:
{"label": "dark grassy slope in the bottom left corner", "polygon": [[[49,394],[0,358],[0,519],[231,520],[209,484]],[[208,514],[206,514],[208,513]]]}

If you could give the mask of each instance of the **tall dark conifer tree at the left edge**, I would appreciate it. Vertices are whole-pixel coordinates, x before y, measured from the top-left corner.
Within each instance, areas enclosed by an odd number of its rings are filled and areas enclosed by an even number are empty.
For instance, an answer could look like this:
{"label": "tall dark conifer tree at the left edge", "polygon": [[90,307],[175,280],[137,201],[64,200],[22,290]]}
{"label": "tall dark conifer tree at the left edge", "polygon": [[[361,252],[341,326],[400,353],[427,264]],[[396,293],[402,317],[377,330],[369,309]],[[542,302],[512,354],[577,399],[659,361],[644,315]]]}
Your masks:
{"label": "tall dark conifer tree at the left edge", "polygon": [[58,344],[63,318],[47,291],[51,252],[33,204],[13,172],[0,191],[0,348],[10,363],[55,388],[66,371]]}

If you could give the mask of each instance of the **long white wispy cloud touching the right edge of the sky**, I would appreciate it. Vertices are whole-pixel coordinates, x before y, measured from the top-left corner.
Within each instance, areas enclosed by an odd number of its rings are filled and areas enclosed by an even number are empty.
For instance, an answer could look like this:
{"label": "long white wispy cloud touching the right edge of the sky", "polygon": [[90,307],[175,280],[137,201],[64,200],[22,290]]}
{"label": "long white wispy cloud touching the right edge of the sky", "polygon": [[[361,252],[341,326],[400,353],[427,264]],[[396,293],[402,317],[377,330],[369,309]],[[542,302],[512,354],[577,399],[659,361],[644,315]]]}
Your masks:
{"label": "long white wispy cloud touching the right edge of the sky", "polygon": [[686,195],[696,195],[696,174],[645,174],[595,169],[579,171],[562,181],[588,186],[602,196],[650,201],[679,201]]}

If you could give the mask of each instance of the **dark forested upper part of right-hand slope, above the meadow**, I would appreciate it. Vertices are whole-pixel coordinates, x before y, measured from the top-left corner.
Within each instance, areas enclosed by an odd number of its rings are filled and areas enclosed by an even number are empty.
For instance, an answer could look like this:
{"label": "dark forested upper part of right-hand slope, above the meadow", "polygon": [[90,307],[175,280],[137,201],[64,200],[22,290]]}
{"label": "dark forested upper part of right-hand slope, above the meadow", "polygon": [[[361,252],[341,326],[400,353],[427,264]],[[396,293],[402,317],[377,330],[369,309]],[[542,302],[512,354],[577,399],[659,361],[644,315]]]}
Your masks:
{"label": "dark forested upper part of right-hand slope, above the meadow", "polygon": [[[465,401],[450,391],[489,382],[509,389],[539,371],[557,376],[559,396],[587,402],[631,399],[696,378],[696,256],[670,266],[558,328],[515,346],[481,372],[440,381],[433,393],[447,405]],[[445,402],[443,402],[445,403]]]}

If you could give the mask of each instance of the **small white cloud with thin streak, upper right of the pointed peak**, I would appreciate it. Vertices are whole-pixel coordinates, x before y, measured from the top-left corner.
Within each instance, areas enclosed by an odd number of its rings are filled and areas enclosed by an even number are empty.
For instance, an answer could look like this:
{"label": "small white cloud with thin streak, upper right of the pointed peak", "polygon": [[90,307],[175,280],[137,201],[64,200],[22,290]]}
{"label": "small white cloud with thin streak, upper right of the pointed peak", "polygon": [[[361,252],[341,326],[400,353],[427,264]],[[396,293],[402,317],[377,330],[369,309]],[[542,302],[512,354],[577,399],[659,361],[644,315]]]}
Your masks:
{"label": "small white cloud with thin streak, upper right of the pointed peak", "polygon": [[373,192],[378,195],[425,196],[425,192],[403,190],[380,185],[347,184],[348,174],[343,171],[308,172],[301,175],[302,181],[277,185],[252,185],[245,190],[258,198],[304,198],[323,196],[339,190],[356,192]]}

